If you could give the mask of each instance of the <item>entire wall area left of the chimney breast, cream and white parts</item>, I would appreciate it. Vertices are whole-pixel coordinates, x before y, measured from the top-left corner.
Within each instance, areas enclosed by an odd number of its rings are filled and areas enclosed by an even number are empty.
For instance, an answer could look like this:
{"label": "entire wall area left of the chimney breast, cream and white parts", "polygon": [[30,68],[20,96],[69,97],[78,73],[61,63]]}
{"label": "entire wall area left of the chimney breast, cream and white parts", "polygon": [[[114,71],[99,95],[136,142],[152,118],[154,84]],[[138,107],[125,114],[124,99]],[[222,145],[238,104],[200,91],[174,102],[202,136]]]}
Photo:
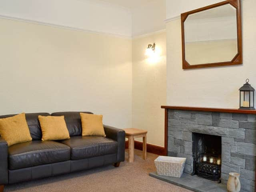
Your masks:
{"label": "entire wall area left of the chimney breast, cream and white parts", "polygon": [[[132,10],[95,0],[1,0],[0,114],[89,110],[106,124],[144,128],[148,143],[163,146],[165,10],[165,0]],[[158,62],[144,56],[153,42]]]}

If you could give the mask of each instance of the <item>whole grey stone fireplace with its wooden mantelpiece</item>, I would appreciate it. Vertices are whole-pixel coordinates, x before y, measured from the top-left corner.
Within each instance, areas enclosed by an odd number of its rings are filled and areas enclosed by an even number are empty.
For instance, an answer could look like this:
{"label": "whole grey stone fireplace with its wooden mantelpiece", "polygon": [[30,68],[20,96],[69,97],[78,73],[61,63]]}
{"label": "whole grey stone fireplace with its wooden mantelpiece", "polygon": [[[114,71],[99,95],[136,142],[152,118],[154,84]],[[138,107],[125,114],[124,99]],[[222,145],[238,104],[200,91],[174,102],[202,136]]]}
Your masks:
{"label": "whole grey stone fireplace with its wooden mantelpiece", "polygon": [[186,158],[184,173],[226,185],[236,172],[255,190],[256,110],[166,106],[165,117],[167,155]]}

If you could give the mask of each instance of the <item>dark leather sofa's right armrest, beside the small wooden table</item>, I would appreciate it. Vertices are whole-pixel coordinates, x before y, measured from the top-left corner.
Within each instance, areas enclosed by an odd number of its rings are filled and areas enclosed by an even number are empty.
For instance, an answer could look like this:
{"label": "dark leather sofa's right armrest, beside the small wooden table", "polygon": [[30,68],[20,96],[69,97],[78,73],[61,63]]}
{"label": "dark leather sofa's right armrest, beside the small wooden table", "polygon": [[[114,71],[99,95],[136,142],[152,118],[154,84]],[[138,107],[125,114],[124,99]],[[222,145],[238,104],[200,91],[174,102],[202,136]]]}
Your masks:
{"label": "dark leather sofa's right armrest, beside the small wooden table", "polygon": [[122,129],[104,125],[107,138],[118,142],[117,162],[124,161],[125,153],[125,132]]}

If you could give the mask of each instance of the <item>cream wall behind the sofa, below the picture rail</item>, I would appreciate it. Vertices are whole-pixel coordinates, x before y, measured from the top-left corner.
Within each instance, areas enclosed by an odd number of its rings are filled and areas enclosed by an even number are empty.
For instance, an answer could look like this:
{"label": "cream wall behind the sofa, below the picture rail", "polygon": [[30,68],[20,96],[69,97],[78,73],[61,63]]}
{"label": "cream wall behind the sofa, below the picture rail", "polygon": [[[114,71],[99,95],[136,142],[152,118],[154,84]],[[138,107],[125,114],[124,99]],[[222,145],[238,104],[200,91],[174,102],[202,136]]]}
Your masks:
{"label": "cream wall behind the sofa, below the picture rail", "polygon": [[0,19],[0,114],[92,111],[132,126],[132,40]]}

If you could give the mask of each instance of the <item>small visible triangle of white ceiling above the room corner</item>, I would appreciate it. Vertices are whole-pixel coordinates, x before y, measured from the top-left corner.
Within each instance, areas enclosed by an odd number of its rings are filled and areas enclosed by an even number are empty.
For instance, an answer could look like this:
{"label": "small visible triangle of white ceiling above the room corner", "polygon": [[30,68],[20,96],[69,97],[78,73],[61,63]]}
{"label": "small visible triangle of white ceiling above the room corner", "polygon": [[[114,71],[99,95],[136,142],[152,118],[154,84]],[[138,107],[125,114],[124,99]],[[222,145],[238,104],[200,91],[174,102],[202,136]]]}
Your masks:
{"label": "small visible triangle of white ceiling above the room corner", "polygon": [[153,0],[100,0],[100,1],[132,9],[132,8],[142,6],[143,4],[146,4]]}

